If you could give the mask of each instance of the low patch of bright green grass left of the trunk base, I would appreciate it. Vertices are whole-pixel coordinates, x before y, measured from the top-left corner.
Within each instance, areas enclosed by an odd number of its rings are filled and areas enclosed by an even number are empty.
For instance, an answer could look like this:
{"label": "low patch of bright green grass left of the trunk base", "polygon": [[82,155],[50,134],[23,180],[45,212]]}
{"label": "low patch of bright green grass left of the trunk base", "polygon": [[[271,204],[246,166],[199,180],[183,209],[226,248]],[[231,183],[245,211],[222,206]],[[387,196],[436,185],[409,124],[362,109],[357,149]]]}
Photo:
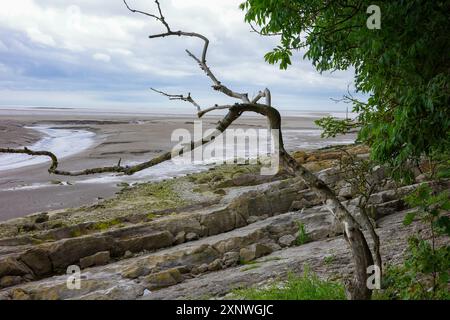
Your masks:
{"label": "low patch of bright green grass left of the trunk base", "polygon": [[345,300],[341,283],[319,279],[305,270],[302,276],[289,274],[286,282],[276,282],[266,288],[248,288],[234,291],[248,300]]}

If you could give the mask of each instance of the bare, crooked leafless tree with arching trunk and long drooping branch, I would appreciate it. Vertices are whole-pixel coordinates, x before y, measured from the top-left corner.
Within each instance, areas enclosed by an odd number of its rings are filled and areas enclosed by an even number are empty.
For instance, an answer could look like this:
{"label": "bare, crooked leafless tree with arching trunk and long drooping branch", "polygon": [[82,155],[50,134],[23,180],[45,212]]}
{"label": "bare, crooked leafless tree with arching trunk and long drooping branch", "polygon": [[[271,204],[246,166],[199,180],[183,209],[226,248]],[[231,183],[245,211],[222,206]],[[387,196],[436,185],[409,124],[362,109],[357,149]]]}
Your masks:
{"label": "bare, crooked leafless tree with arching trunk and long drooping branch", "polygon": [[[194,55],[189,50],[186,50],[187,54],[199,64],[200,68],[205,72],[205,74],[211,79],[213,85],[212,88],[218,92],[221,92],[230,98],[239,100],[239,102],[229,105],[215,105],[209,108],[202,109],[200,104],[194,101],[190,94],[184,95],[174,95],[168,94],[160,90],[152,89],[155,92],[163,94],[172,100],[182,100],[193,104],[198,111],[198,117],[201,118],[203,115],[215,111],[215,110],[228,110],[228,113],[223,117],[221,121],[217,124],[215,131],[203,137],[199,141],[192,142],[188,145],[181,147],[178,150],[172,152],[166,152],[161,154],[147,162],[143,162],[134,166],[121,166],[120,161],[117,165],[111,167],[99,167],[86,169],[81,171],[64,171],[58,169],[58,158],[51,152],[48,151],[33,151],[27,148],[24,149],[10,149],[4,148],[0,149],[0,153],[22,153],[31,156],[47,156],[51,159],[52,164],[49,168],[49,173],[65,176],[81,176],[89,174],[99,174],[99,173],[122,173],[127,175],[132,175],[138,171],[155,166],[164,161],[170,160],[175,155],[181,155],[185,152],[189,152],[201,145],[207,144],[214,140],[215,137],[223,133],[236,119],[238,119],[244,112],[258,113],[265,116],[268,119],[269,129],[278,130],[278,146],[279,146],[279,159],[280,168],[284,172],[291,173],[302,178],[307,186],[313,190],[317,196],[328,206],[330,212],[335,216],[335,218],[343,224],[345,238],[350,245],[353,253],[353,259],[355,264],[355,279],[350,285],[348,290],[349,297],[351,299],[368,299],[370,298],[371,291],[367,288],[367,268],[373,265],[373,258],[370,249],[367,245],[367,241],[361,232],[361,228],[353,218],[353,216],[348,212],[348,210],[339,202],[333,190],[331,190],[322,180],[317,178],[313,173],[308,171],[302,165],[297,163],[291,155],[286,152],[283,144],[283,137],[281,134],[281,116],[278,110],[271,105],[271,93],[269,89],[264,89],[260,91],[253,99],[249,98],[247,93],[239,93],[231,90],[226,85],[218,80],[218,78],[211,71],[210,67],[206,62],[206,57],[208,53],[209,40],[205,36],[195,33],[195,32],[185,32],[185,31],[173,31],[169,24],[167,23],[165,17],[163,16],[161,5],[158,0],[155,1],[157,6],[157,14],[151,14],[144,11],[139,11],[132,9],[126,0],[123,0],[128,10],[133,13],[143,14],[157,21],[165,27],[166,32],[151,35],[149,38],[164,38],[169,36],[184,36],[184,37],[194,37],[203,41],[203,49],[200,58]],[[265,98],[264,103],[259,101]]]}

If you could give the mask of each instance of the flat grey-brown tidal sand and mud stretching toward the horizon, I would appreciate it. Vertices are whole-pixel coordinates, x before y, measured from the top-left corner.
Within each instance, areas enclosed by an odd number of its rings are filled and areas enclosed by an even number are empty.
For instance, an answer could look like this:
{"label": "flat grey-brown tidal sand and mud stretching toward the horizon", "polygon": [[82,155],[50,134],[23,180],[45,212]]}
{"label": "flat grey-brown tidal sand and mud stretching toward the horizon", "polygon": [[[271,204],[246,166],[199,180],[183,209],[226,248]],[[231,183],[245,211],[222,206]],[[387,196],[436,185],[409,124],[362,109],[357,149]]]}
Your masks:
{"label": "flat grey-brown tidal sand and mud stretching toward the horizon", "polygon": [[[327,144],[349,143],[353,136],[326,140],[314,120],[323,114],[283,117],[283,134],[288,149],[314,149]],[[205,117],[203,129],[212,128],[220,116]],[[195,115],[151,115],[120,113],[88,113],[74,110],[0,110],[0,146],[31,146],[43,139],[43,134],[30,127],[45,126],[61,130],[92,132],[91,145],[60,161],[60,168],[79,170],[90,167],[135,163],[151,159],[171,150],[177,142],[171,141],[172,132],[184,128],[193,131]],[[233,128],[266,128],[262,117],[245,117]],[[67,147],[67,146],[66,146]],[[75,145],[73,147],[76,147]],[[1,155],[0,155],[1,157]],[[0,158],[1,160],[1,158]],[[102,177],[61,177],[47,173],[48,162],[0,171],[0,220],[21,217],[36,212],[47,212],[67,207],[95,203],[114,196],[120,189],[118,180]],[[173,164],[154,168],[151,174],[133,181],[148,181],[183,174]],[[164,172],[163,172],[164,171]],[[140,180],[141,179],[141,180]],[[88,182],[88,183],[86,183]]]}

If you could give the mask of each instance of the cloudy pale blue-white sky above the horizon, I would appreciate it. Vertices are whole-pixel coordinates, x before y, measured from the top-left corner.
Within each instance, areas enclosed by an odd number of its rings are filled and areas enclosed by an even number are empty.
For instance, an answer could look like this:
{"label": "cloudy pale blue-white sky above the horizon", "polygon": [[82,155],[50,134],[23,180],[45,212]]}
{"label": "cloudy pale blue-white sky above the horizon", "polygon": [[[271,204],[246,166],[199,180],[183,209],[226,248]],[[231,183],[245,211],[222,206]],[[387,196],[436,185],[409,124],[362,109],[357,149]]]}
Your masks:
{"label": "cloudy pale blue-white sky above the horizon", "polygon": [[[287,71],[268,65],[264,54],[277,39],[250,32],[242,0],[160,0],[173,30],[203,33],[211,40],[208,63],[236,91],[269,87],[281,110],[342,110],[340,98],[353,73],[317,73],[299,53]],[[152,0],[130,6],[155,12]],[[191,92],[205,106],[230,102],[211,90],[209,79],[184,49],[200,54],[202,42],[148,39],[161,24],[129,12],[122,0],[15,0],[0,10],[0,105],[188,110],[149,90]],[[231,100],[232,101],[232,100]],[[189,111],[194,111],[189,109]],[[187,112],[188,113],[188,112]]]}

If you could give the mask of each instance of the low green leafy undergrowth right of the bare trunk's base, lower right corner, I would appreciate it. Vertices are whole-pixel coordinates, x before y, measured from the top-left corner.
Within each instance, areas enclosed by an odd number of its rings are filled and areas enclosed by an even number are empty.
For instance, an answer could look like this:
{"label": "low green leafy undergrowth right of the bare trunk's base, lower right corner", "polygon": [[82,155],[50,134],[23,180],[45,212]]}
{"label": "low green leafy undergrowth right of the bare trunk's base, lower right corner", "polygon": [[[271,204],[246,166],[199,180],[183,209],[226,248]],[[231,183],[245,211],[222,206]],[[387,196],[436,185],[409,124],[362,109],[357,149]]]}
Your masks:
{"label": "low green leafy undergrowth right of the bare trunk's base, lower right corner", "polygon": [[430,236],[419,235],[408,240],[407,257],[401,266],[390,267],[383,277],[381,299],[450,299],[448,281],[450,246],[437,246],[438,236],[450,235],[450,209],[447,191],[433,194],[428,185],[420,186],[406,197],[417,210],[406,215],[404,224],[419,219],[429,226]]}

